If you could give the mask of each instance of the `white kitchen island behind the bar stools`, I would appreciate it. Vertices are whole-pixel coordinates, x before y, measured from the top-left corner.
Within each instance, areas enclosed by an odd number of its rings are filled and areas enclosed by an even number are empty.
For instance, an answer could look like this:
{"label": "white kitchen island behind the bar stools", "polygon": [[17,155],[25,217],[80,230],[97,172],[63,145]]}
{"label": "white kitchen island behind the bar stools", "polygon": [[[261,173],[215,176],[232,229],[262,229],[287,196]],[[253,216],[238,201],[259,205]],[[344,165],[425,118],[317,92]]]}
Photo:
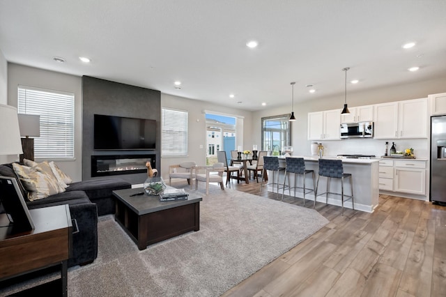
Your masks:
{"label": "white kitchen island behind the bar stools", "polygon": [[[279,165],[281,167],[285,167],[285,157],[279,156]],[[305,169],[313,169],[315,174],[315,183],[318,178],[318,160],[317,156],[291,156],[291,158],[304,158],[305,160]],[[342,165],[344,167],[344,173],[352,174],[353,177],[353,198],[355,201],[355,210],[365,211],[371,213],[374,211],[374,208],[378,206],[378,197],[379,197],[379,172],[378,172],[378,162],[379,158],[371,158],[371,159],[355,159],[355,158],[339,158],[336,156],[323,156],[324,159],[339,159],[342,160]],[[268,174],[268,176],[272,176]],[[319,181],[319,193],[326,192],[325,189],[327,187],[327,179],[325,177],[321,177]],[[288,178],[287,178],[288,180]],[[350,185],[348,184],[350,181],[347,178],[344,181],[344,194],[350,195]],[[279,174],[279,183],[283,185],[284,183],[284,172],[282,171]],[[287,181],[288,184],[288,181]],[[290,174],[290,184],[294,184],[294,174]],[[311,174],[307,174],[307,180],[305,181],[305,185],[307,188],[312,188],[312,178]],[[298,186],[302,186],[302,176],[298,178]],[[272,189],[268,189],[272,190]],[[341,180],[337,178],[332,178],[330,181],[330,191],[329,192],[339,192],[341,193]],[[282,190],[279,190],[279,194],[282,195]],[[285,189],[285,194],[289,195],[287,189]],[[293,190],[291,190],[291,195],[293,195]],[[296,190],[296,196],[302,199],[303,193],[302,189]],[[314,200],[314,192],[310,192],[305,195],[305,199]],[[325,194],[318,196],[316,201],[325,203]],[[328,195],[328,204],[333,204],[337,206],[341,206],[341,195]],[[344,207],[352,208],[351,200],[344,201]]]}

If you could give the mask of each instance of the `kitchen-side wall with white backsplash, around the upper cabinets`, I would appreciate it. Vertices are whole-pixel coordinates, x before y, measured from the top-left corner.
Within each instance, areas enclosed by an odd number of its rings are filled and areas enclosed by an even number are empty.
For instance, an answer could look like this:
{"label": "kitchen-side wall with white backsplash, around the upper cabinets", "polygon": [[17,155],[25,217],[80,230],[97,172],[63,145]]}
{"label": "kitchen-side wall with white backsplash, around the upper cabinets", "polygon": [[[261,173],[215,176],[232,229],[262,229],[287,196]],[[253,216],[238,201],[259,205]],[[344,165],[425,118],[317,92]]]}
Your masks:
{"label": "kitchen-side wall with white backsplash, around the upper cabinets", "polygon": [[[436,77],[422,82],[385,86],[380,89],[369,89],[361,92],[347,90],[348,107],[378,104],[426,98],[429,94],[446,92],[446,77]],[[291,145],[294,155],[311,155],[311,141],[307,140],[307,114],[322,110],[340,109],[344,106],[344,93],[330,98],[311,100],[308,96],[303,102],[294,101],[294,114],[297,121],[291,125]],[[261,118],[278,114],[289,114],[290,107],[266,107],[264,110],[254,112],[252,126],[254,130],[253,141],[261,143]],[[389,139],[390,146],[392,139]],[[413,147],[417,158],[429,157],[429,144],[427,139],[395,139],[397,149]],[[337,141],[322,141],[326,148],[325,153],[337,155],[340,153],[362,153],[370,155],[383,155],[385,139],[344,139]],[[389,146],[389,149],[390,149]]]}

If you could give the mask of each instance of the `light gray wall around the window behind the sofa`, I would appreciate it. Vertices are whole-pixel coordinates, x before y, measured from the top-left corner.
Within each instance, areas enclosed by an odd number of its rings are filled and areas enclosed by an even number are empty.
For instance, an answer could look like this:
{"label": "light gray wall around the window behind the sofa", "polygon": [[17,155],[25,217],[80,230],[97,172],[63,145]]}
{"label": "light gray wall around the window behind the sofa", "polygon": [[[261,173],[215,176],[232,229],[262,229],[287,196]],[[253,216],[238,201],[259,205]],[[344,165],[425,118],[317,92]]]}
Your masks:
{"label": "light gray wall around the window behind the sofa", "polygon": [[82,79],[15,63],[8,63],[8,105],[17,107],[17,86],[34,86],[75,94],[75,160],[56,162],[74,181],[82,180]]}

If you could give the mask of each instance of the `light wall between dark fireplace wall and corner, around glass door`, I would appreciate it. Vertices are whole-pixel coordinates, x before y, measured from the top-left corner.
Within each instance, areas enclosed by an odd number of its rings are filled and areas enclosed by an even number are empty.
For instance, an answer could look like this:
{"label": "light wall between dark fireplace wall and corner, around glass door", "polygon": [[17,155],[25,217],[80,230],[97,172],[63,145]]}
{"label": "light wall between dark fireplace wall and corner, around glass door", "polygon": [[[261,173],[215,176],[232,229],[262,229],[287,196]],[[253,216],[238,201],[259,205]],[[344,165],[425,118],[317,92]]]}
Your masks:
{"label": "light wall between dark fireplace wall and corner, around glass door", "polygon": [[[161,172],[164,181],[169,180],[169,166],[183,161],[195,161],[206,165],[206,115],[204,110],[232,116],[243,117],[243,147],[252,148],[252,112],[216,105],[211,102],[192,100],[161,93],[161,106],[183,109],[189,112],[189,139],[187,157],[161,156]],[[238,133],[238,132],[237,132]],[[203,146],[200,148],[200,146]]]}

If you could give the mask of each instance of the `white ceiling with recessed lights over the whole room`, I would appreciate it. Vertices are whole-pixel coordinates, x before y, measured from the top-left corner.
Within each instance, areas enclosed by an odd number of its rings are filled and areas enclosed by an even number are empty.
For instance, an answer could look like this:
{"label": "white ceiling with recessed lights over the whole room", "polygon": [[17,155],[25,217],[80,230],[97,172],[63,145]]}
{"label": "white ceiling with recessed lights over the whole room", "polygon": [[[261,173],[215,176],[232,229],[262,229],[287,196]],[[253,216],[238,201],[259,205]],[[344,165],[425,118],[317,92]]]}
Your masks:
{"label": "white ceiling with recessed lights over the whole room", "polygon": [[360,80],[348,92],[446,75],[446,1],[2,0],[0,50],[13,63],[257,110],[291,105],[293,81],[295,104],[344,96],[345,67]]}

